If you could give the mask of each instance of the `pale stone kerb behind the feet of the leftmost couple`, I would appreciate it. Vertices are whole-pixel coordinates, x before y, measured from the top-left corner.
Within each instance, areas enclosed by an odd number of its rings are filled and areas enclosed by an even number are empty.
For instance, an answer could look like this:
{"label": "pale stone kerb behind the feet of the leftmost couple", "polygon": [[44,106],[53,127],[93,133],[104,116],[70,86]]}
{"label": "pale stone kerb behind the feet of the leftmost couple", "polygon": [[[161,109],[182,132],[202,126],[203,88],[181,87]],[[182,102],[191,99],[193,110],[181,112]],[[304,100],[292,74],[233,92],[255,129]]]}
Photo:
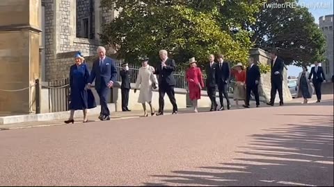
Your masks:
{"label": "pale stone kerb behind the feet of the leftmost couple", "polygon": [[[109,103],[108,107],[110,112],[115,112],[115,104]],[[89,115],[100,114],[100,105],[93,109],[88,109]],[[45,114],[25,114],[25,115],[17,115],[17,116],[4,116],[0,117],[0,125],[11,124],[11,123],[23,123],[23,122],[35,122],[35,121],[52,121],[52,120],[59,120],[65,119],[70,116],[69,111],[65,112],[53,112],[53,113],[45,113]],[[77,111],[74,113],[74,116],[83,117],[84,114],[81,111]],[[0,126],[1,127],[1,126]]]}

